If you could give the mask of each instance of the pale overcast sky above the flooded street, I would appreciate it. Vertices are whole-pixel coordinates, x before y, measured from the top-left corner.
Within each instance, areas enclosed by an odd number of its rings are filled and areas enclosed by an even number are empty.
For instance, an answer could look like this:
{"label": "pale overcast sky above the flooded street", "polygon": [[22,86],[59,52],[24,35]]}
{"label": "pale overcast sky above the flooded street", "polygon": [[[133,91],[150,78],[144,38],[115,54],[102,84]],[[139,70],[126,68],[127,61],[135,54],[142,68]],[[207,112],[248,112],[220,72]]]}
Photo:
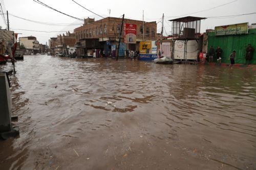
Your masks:
{"label": "pale overcast sky above the flooded street", "polygon": [[[96,20],[100,19],[99,16],[96,16],[93,13],[79,7],[72,0],[39,1],[47,4],[52,8],[55,8],[61,12],[67,13],[77,18],[95,17]],[[256,12],[255,0],[74,1],[103,17],[109,15],[112,17],[121,17],[122,14],[125,14],[125,18],[142,20],[142,11],[144,10],[145,21],[159,22],[161,21],[162,14],[164,13],[164,35],[170,34],[171,22],[169,22],[168,20],[176,18],[177,16],[190,15],[199,17],[209,17],[208,19],[201,21],[201,32],[204,32],[206,29],[214,29],[215,26],[230,25],[233,23],[256,23],[256,14],[230,16]],[[9,22],[11,30],[15,31],[16,33],[22,33],[22,35],[19,36],[35,36],[37,37],[38,41],[43,44],[48,42],[48,39],[50,37],[54,37],[57,34],[63,33],[59,31],[72,31],[74,30],[74,28],[82,25],[82,21],[73,19],[71,17],[60,14],[56,11],[53,11],[40,4],[37,4],[33,0],[0,0],[0,3],[2,5],[3,10],[8,10],[8,12],[10,13]],[[109,9],[111,10],[110,14],[108,12]],[[2,11],[1,8],[0,10]],[[44,23],[31,22],[17,17]],[[0,17],[0,26],[2,26],[3,29],[6,28],[2,16]],[[160,33],[161,22],[158,23],[157,28],[157,31]]]}

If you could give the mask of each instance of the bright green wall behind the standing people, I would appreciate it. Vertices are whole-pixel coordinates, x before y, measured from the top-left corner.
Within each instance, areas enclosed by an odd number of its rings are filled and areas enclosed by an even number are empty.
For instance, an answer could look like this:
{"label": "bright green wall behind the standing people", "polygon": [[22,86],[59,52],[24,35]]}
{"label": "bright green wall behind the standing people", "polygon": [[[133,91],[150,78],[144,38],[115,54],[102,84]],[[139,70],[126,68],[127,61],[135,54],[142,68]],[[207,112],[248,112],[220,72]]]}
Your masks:
{"label": "bright green wall behind the standing people", "polygon": [[[249,29],[246,35],[227,35],[227,36],[215,36],[215,33],[208,33],[208,51],[210,45],[216,50],[220,46],[223,50],[222,63],[230,63],[228,60],[229,55],[233,50],[237,52],[236,63],[245,64],[245,47],[248,44],[254,47],[253,58],[250,64],[256,64],[256,29]],[[214,62],[217,62],[216,55],[214,56]]]}

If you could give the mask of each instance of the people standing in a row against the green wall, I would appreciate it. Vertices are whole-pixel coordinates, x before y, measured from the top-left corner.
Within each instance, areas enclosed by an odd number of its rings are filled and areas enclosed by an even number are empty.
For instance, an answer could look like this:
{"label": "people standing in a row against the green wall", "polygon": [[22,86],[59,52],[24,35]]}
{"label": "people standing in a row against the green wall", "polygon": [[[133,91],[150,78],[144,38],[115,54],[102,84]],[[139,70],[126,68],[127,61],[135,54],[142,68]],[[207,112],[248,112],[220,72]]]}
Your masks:
{"label": "people standing in a row against the green wall", "polygon": [[[251,44],[248,44],[247,47],[245,48],[245,51],[246,51],[246,55],[245,55],[246,64],[248,64],[249,61],[252,59],[254,48],[251,46]],[[213,62],[215,54],[217,56],[217,62],[221,63],[223,50],[221,49],[220,46],[218,46],[217,49],[215,50],[214,47],[212,47],[212,45],[210,46],[209,53],[208,53],[209,63]],[[200,61],[202,61],[205,58],[206,58],[206,53],[204,52],[202,57],[200,56]],[[236,58],[237,58],[236,51],[233,50],[233,52],[229,55],[229,58],[228,58],[228,60],[230,60],[231,65],[234,64],[234,61],[235,61]]]}

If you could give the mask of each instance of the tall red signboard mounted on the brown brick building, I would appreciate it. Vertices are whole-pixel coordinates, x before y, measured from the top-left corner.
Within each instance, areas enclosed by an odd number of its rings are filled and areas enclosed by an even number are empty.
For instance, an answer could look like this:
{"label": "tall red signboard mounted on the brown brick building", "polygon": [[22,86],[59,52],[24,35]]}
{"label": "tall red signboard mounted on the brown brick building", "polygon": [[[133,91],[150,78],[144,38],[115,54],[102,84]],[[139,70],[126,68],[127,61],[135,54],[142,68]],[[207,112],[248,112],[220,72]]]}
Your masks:
{"label": "tall red signboard mounted on the brown brick building", "polygon": [[136,44],[137,25],[125,23],[124,25],[124,42],[128,44]]}

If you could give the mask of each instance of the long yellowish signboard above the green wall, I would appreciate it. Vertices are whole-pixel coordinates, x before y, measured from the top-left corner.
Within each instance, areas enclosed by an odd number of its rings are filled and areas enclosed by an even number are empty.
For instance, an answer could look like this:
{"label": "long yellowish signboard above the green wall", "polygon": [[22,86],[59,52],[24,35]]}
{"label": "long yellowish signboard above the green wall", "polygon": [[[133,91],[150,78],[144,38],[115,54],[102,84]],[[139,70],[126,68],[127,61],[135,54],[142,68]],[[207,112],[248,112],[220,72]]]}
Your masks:
{"label": "long yellowish signboard above the green wall", "polygon": [[248,34],[248,22],[215,27],[216,36],[238,34]]}

